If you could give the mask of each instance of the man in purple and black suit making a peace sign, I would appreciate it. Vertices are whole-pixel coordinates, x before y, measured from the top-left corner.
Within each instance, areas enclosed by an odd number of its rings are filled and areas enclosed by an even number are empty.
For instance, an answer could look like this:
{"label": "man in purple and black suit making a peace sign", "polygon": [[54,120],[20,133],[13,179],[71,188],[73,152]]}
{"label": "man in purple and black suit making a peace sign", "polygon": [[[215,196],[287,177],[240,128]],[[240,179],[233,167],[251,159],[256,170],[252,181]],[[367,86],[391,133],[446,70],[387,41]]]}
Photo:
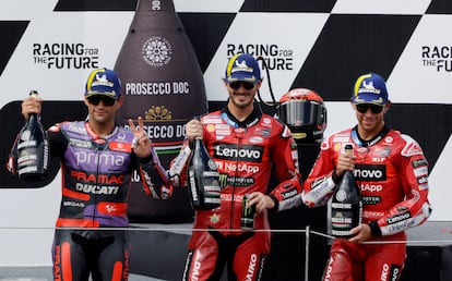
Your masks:
{"label": "man in purple and black suit making a peace sign", "polygon": [[[144,132],[143,119],[138,118],[138,125],[130,119],[130,130],[115,123],[123,100],[115,71],[93,70],[83,100],[86,120],[57,123],[47,131],[50,158],[60,160],[62,176],[51,247],[53,280],[126,281],[132,172],[139,172],[143,190],[154,198],[168,198],[173,186]],[[41,102],[34,97],[23,100],[25,120],[41,112]],[[19,157],[16,140],[8,166],[14,174]]]}

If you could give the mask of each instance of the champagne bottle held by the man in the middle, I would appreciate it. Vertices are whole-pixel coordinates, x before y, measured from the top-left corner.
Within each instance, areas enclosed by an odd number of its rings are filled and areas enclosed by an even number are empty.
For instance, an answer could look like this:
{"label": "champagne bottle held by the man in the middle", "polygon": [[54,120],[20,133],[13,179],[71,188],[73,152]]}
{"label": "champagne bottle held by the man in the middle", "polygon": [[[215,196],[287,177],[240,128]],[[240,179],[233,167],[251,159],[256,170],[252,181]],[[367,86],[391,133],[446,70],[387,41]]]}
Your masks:
{"label": "champagne bottle held by the man in the middle", "polygon": [[219,207],[219,174],[202,138],[194,139],[194,148],[188,167],[189,194],[194,209]]}

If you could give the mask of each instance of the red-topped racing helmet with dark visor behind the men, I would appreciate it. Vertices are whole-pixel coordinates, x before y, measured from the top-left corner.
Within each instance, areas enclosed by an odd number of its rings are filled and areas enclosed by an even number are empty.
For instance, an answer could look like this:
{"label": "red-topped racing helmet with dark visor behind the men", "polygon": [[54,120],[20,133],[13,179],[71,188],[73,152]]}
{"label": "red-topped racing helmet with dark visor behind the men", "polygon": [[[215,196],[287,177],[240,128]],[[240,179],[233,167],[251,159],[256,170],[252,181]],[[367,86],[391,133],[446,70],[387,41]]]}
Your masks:
{"label": "red-topped racing helmet with dark visor behind the men", "polygon": [[292,131],[297,143],[321,143],[326,129],[326,108],[312,89],[294,88],[279,99],[276,118]]}

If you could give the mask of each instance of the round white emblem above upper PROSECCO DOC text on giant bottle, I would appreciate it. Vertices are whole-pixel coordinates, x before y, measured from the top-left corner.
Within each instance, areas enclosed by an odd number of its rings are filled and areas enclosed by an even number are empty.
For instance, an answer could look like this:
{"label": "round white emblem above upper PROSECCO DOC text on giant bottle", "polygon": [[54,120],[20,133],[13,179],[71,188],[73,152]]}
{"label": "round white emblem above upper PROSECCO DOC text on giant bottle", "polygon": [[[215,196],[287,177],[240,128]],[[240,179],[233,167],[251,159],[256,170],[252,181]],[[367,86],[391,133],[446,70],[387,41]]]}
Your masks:
{"label": "round white emblem above upper PROSECCO DOC text on giant bottle", "polygon": [[173,48],[167,39],[152,36],[143,44],[142,54],[147,64],[159,68],[169,63]]}

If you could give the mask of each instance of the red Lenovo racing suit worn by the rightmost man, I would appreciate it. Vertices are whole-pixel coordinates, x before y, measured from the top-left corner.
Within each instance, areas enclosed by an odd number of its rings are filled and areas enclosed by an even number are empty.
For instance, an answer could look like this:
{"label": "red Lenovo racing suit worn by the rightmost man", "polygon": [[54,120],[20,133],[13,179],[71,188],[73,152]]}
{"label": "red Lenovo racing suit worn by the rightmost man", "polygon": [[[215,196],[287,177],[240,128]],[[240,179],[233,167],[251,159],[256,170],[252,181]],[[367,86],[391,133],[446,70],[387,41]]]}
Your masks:
{"label": "red Lenovo racing suit worn by the rightmost man", "polygon": [[362,140],[357,126],[334,133],[322,143],[304,183],[307,206],[324,205],[333,195],[341,181],[335,164],[346,144],[354,146],[362,222],[372,235],[359,244],[335,239],[323,280],[399,280],[406,256],[405,230],[430,216],[428,162],[416,140],[388,126],[371,140]]}

